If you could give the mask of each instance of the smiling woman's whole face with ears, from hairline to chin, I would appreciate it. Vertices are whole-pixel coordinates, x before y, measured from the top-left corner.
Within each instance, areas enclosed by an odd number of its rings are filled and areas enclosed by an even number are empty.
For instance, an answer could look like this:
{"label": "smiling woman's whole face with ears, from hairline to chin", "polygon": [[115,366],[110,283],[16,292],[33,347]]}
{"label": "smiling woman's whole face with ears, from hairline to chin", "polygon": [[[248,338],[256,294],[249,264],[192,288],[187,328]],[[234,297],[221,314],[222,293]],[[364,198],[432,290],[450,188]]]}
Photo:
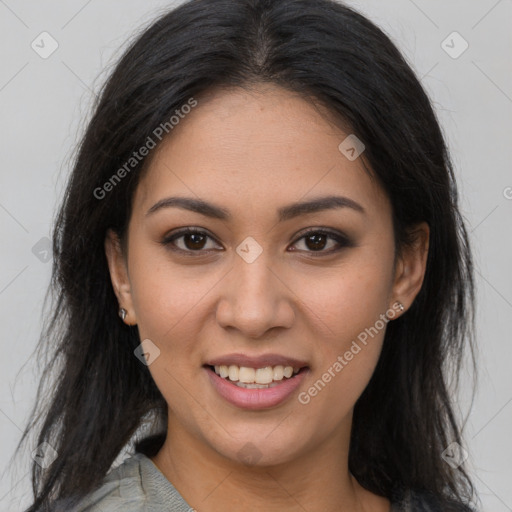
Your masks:
{"label": "smiling woman's whole face with ears, from hairline to chin", "polygon": [[428,236],[394,265],[390,203],[348,135],[283,89],[217,91],[154,155],[127,254],[107,238],[169,432],[204,453],[275,464],[347,440],[386,312],[419,291]]}

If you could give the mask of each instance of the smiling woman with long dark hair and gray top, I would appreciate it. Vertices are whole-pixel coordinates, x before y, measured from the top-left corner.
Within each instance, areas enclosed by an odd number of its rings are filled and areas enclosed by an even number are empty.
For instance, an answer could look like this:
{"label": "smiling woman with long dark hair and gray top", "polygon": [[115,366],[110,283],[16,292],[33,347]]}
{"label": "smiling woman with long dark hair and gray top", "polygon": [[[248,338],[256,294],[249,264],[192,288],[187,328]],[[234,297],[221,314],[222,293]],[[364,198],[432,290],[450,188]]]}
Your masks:
{"label": "smiling woman with long dark hair and gray top", "polygon": [[352,9],[158,19],[95,107],[54,258],[27,512],[471,510],[453,171],[418,79]]}

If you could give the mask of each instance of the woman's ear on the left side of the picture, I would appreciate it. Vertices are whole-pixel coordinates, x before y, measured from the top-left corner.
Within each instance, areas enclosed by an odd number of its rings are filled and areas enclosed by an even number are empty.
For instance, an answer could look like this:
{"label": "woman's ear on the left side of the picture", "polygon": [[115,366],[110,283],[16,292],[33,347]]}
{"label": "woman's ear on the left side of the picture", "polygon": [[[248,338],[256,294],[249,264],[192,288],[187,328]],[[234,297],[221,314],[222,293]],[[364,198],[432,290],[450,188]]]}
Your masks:
{"label": "woman's ear on the left side of the picture", "polygon": [[112,281],[119,307],[126,310],[124,323],[127,325],[135,325],[137,320],[133,308],[126,257],[118,235],[111,229],[107,231],[107,236],[105,237],[105,254],[110,271],[110,280]]}

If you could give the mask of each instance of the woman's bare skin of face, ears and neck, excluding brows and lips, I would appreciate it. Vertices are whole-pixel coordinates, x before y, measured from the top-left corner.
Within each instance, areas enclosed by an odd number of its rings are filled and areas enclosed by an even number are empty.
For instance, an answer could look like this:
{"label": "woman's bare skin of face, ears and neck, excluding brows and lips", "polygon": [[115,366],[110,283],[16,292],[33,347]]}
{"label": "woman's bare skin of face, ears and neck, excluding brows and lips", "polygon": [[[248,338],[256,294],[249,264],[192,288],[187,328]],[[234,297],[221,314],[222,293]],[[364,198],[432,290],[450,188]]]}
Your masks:
{"label": "woman's bare skin of face, ears and neck, excluding brows and lips", "polygon": [[[416,243],[395,265],[391,205],[363,170],[364,153],[349,161],[338,150],[346,136],[327,112],[277,86],[210,92],[152,155],[135,193],[126,252],[107,235],[125,321],[160,350],[149,370],[169,423],[152,461],[200,512],[390,509],[348,470],[354,404],[385,327],[306,405],[295,393],[267,410],[239,409],[217,394],[203,368],[233,352],[284,354],[308,362],[298,392],[307,391],[396,301],[405,310],[413,302],[428,226],[415,227]],[[345,207],[278,222],[278,208],[328,195],[348,197],[365,212]],[[146,215],[169,196],[212,202],[232,219],[176,207]],[[175,240],[188,256],[162,245],[190,226],[210,238]],[[353,246],[329,254],[336,240],[308,243],[307,228],[345,234]],[[236,253],[248,236],[263,250],[250,264]],[[249,442],[259,457],[251,465],[238,455]]]}

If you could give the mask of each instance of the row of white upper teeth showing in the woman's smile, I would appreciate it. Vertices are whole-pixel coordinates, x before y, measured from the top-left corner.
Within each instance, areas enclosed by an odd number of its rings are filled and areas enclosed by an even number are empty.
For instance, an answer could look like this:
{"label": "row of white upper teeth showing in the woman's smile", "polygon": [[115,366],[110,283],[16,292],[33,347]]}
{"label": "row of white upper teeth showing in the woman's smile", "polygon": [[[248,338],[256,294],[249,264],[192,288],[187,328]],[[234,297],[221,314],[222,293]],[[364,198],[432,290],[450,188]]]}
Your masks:
{"label": "row of white upper teeth showing in the woman's smile", "polygon": [[289,379],[300,371],[300,368],[282,365],[248,368],[247,366],[232,364],[229,366],[218,365],[214,368],[217,375],[220,375],[223,379],[228,378],[232,382],[237,382],[239,387],[244,388],[266,388],[269,387],[267,384],[281,381],[283,378]]}

